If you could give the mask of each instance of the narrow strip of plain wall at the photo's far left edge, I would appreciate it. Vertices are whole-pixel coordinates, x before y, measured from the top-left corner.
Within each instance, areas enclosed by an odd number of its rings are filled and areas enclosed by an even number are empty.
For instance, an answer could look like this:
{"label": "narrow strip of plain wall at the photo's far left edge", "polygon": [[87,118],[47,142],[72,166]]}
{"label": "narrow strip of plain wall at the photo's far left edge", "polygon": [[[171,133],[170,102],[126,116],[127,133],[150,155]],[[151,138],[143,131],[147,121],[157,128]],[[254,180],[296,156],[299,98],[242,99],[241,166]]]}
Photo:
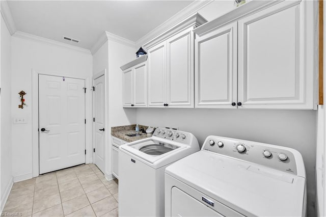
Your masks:
{"label": "narrow strip of plain wall at the photo's far left edge", "polygon": [[[1,15],[0,15],[1,16]],[[11,35],[1,16],[1,210],[12,184]],[[18,92],[17,92],[18,93]],[[18,106],[18,105],[17,105]]]}

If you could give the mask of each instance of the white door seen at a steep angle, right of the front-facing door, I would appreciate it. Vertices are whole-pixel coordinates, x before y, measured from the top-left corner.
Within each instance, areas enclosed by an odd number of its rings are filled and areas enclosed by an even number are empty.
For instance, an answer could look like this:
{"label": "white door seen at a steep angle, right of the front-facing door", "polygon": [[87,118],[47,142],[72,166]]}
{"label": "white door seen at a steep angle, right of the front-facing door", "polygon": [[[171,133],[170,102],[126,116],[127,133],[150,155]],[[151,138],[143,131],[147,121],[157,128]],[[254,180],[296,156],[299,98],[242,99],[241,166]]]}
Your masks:
{"label": "white door seen at a steep angle, right of the front-facing door", "polygon": [[104,75],[94,79],[94,147],[95,164],[105,171],[105,83]]}

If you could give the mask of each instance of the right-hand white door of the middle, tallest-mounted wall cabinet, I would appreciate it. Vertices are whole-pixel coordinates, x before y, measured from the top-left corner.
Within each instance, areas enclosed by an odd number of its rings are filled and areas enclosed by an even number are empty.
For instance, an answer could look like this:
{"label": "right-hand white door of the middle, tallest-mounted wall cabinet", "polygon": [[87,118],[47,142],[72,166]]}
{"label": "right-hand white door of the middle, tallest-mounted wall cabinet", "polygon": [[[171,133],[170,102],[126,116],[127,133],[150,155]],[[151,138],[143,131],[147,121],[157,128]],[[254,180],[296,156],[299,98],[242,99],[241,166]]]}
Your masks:
{"label": "right-hand white door of the middle, tallest-mounted wall cabinet", "polygon": [[194,33],[184,31],[167,41],[167,103],[194,107]]}

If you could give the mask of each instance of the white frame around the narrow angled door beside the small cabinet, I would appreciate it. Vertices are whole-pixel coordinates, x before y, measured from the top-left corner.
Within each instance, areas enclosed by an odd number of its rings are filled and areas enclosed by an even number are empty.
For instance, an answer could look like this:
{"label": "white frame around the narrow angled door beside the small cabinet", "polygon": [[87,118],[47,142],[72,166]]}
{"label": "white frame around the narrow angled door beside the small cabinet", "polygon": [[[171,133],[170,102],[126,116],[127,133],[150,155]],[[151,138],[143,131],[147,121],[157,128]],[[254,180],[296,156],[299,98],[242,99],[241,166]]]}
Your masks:
{"label": "white frame around the narrow angled door beside the small cabinet", "polygon": [[[106,160],[107,160],[107,155],[106,155],[106,144],[107,144],[107,99],[106,99],[106,92],[107,92],[107,85],[106,85],[106,78],[107,78],[107,72],[106,72],[106,69],[103,69],[101,70],[100,72],[96,73],[95,75],[93,75],[92,77],[92,86],[94,87],[94,80],[96,78],[99,78],[100,76],[104,76],[104,105],[105,105],[105,108],[104,108],[104,120],[105,120],[105,124],[104,124],[104,128],[105,128],[105,131],[104,131],[104,156],[105,156],[105,160],[104,160],[104,171],[106,173]],[[95,99],[95,93],[94,91],[92,91],[93,94],[92,94],[92,108],[93,108],[93,112],[92,112],[92,117],[94,118],[94,112],[95,112],[95,104],[94,104],[94,99]],[[95,124],[93,122],[93,118],[92,118],[92,162],[93,163],[96,163],[95,162],[95,153],[93,152],[93,149],[95,148]],[[105,174],[104,174],[105,175]]]}

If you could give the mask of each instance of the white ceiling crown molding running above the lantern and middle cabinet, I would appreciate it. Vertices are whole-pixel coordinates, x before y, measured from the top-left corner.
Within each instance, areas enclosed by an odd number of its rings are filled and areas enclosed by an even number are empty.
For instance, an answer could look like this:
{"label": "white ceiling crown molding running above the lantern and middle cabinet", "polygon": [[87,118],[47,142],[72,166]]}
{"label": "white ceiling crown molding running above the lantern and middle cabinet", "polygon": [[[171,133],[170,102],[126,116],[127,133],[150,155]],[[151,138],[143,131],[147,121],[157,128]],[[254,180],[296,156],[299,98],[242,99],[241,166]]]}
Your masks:
{"label": "white ceiling crown molding running above the lantern and middle cabinet", "polygon": [[170,19],[157,26],[157,28],[155,28],[154,30],[152,30],[151,32],[149,32],[148,34],[146,34],[145,36],[137,40],[135,44],[137,45],[137,47],[143,46],[146,42],[152,40],[153,38],[156,38],[157,36],[159,36],[164,32],[167,32],[171,28],[171,26],[175,25],[175,23],[178,23],[182,20],[185,20],[189,16],[196,14],[200,9],[212,3],[213,1],[214,0],[207,0],[207,1],[196,0],[195,2],[188,5],[180,12],[172,16]]}

